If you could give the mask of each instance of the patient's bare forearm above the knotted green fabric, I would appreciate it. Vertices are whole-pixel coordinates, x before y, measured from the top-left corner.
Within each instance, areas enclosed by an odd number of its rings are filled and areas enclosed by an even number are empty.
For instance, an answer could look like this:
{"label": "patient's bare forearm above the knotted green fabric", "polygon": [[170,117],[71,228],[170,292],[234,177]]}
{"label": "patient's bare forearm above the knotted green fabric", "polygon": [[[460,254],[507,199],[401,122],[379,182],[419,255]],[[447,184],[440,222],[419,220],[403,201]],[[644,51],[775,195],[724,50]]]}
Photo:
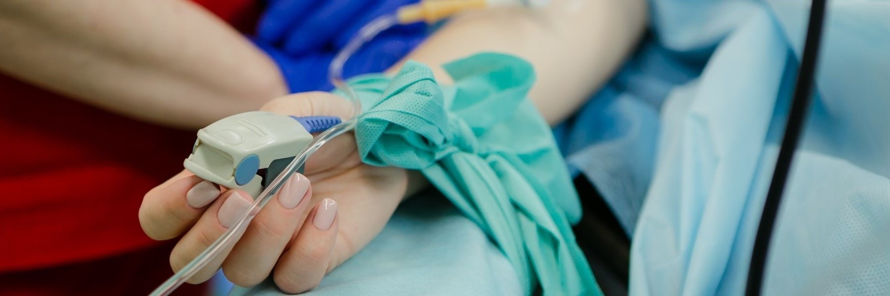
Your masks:
{"label": "patient's bare forearm above the knotted green fabric", "polygon": [[642,36],[645,0],[552,0],[544,10],[466,13],[409,55],[433,67],[475,52],[506,52],[529,60],[538,74],[530,92],[550,124],[570,116],[617,70]]}

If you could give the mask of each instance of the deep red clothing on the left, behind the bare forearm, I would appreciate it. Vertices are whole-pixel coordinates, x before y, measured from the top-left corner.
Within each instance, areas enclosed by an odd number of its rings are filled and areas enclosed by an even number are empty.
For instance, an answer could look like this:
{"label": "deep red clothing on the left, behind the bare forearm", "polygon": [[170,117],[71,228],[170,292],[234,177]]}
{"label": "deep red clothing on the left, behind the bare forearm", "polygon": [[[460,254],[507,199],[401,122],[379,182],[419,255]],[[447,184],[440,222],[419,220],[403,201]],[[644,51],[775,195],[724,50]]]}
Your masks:
{"label": "deep red clothing on the left, behind the bare forearm", "polygon": [[[259,10],[254,0],[195,2],[242,30],[250,29]],[[53,269],[53,278],[40,279],[52,285],[73,276],[59,271],[69,268],[89,275],[86,282],[109,284],[113,276],[135,274],[71,265],[140,266],[134,260],[158,266],[142,271],[170,273],[169,253],[157,251],[169,243],[142,233],[138,211],[150,188],[182,170],[195,137],[0,75],[0,283]]]}

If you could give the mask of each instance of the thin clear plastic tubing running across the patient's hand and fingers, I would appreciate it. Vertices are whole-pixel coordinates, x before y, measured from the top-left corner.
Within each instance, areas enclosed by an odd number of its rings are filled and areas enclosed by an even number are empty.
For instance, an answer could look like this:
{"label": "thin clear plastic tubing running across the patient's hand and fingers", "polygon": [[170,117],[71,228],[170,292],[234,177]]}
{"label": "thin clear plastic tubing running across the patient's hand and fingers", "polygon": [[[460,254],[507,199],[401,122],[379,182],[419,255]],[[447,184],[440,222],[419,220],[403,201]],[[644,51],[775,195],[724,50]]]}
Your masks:
{"label": "thin clear plastic tubing running across the patient's hand and fingers", "polygon": [[395,15],[384,15],[369,22],[368,25],[360,29],[356,36],[352,37],[352,40],[350,40],[340,52],[337,52],[334,60],[331,61],[330,67],[328,68],[328,79],[331,84],[334,84],[337,89],[346,94],[347,100],[352,101],[352,117],[340,124],[334,125],[327,131],[321,132],[316,136],[306,148],[303,148],[303,150],[294,157],[294,160],[290,162],[290,164],[287,164],[284,171],[282,171],[275,180],[271,181],[269,186],[263,190],[263,193],[260,193],[260,196],[257,196],[254,204],[241,216],[234,226],[229,228],[223,236],[216,239],[214,244],[207,247],[204,252],[198,254],[198,257],[191,260],[188,265],[176,272],[174,276],[167,279],[164,284],[158,286],[158,288],[155,289],[154,292],[151,292],[150,295],[160,296],[170,294],[177,287],[182,285],[182,283],[185,283],[191,276],[198,273],[201,268],[204,268],[207,263],[214,260],[216,256],[219,256],[223,250],[231,248],[231,246],[238,242],[238,238],[244,233],[245,229],[247,229],[247,225],[250,224],[250,221],[254,220],[256,214],[259,213],[260,210],[263,209],[263,206],[269,202],[271,197],[275,196],[275,193],[279,191],[284,180],[290,178],[290,176],[296,172],[297,168],[302,167],[303,164],[306,163],[306,159],[308,159],[309,156],[312,156],[312,153],[321,148],[325,143],[328,143],[329,140],[336,138],[344,132],[350,132],[355,129],[357,118],[361,114],[361,103],[358,95],[352,90],[352,87],[344,81],[344,64],[346,63],[346,60],[349,60],[352,54],[359,51],[361,45],[368,43],[374,36],[383,32],[387,28],[391,28],[397,23],[398,20]]}

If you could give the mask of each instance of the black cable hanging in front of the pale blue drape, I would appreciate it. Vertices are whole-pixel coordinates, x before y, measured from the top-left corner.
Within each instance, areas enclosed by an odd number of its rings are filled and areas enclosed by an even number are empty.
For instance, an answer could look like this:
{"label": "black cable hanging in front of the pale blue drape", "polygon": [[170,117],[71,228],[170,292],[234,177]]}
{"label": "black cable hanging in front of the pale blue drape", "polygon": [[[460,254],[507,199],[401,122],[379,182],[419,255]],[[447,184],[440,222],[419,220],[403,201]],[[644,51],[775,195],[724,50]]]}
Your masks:
{"label": "black cable hanging in front of the pale blue drape", "polygon": [[776,215],[779,212],[782,192],[788,181],[788,174],[794,152],[797,150],[797,142],[800,140],[804,127],[806,111],[812,101],[813,76],[816,69],[816,61],[819,56],[819,45],[822,37],[822,24],[825,19],[825,6],[827,0],[813,0],[810,7],[810,20],[806,27],[806,41],[804,44],[804,56],[801,58],[800,68],[797,70],[797,85],[794,97],[791,100],[788,121],[785,125],[785,134],[782,136],[779,158],[773,170],[773,180],[769,191],[766,193],[764,212],[760,216],[760,226],[757,228],[757,236],[754,241],[754,251],[751,252],[751,265],[748,268],[748,285],[745,290],[747,296],[760,295],[763,286],[766,256],[769,252],[770,240],[773,237]]}

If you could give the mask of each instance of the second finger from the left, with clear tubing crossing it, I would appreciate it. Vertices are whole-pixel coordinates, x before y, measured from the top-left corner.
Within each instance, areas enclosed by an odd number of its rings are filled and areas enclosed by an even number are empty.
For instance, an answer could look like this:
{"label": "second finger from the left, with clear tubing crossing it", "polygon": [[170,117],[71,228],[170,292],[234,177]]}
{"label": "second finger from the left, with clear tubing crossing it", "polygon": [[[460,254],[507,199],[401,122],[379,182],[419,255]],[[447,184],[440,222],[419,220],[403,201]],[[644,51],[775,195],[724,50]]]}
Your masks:
{"label": "second finger from the left, with clear tubing crossing it", "polygon": [[[253,203],[253,198],[244,191],[228,190],[223,193],[201,215],[195,226],[185,236],[182,236],[179,243],[176,243],[173,252],[170,253],[170,267],[174,271],[179,271],[195,257],[198,257],[198,254],[204,252],[217,238],[223,236],[226,230],[235,226],[235,223],[250,209]],[[240,235],[239,233],[236,236],[236,240]],[[230,251],[231,247],[223,250],[214,260],[201,268],[195,276],[191,276],[188,282],[197,284],[213,277]]]}

